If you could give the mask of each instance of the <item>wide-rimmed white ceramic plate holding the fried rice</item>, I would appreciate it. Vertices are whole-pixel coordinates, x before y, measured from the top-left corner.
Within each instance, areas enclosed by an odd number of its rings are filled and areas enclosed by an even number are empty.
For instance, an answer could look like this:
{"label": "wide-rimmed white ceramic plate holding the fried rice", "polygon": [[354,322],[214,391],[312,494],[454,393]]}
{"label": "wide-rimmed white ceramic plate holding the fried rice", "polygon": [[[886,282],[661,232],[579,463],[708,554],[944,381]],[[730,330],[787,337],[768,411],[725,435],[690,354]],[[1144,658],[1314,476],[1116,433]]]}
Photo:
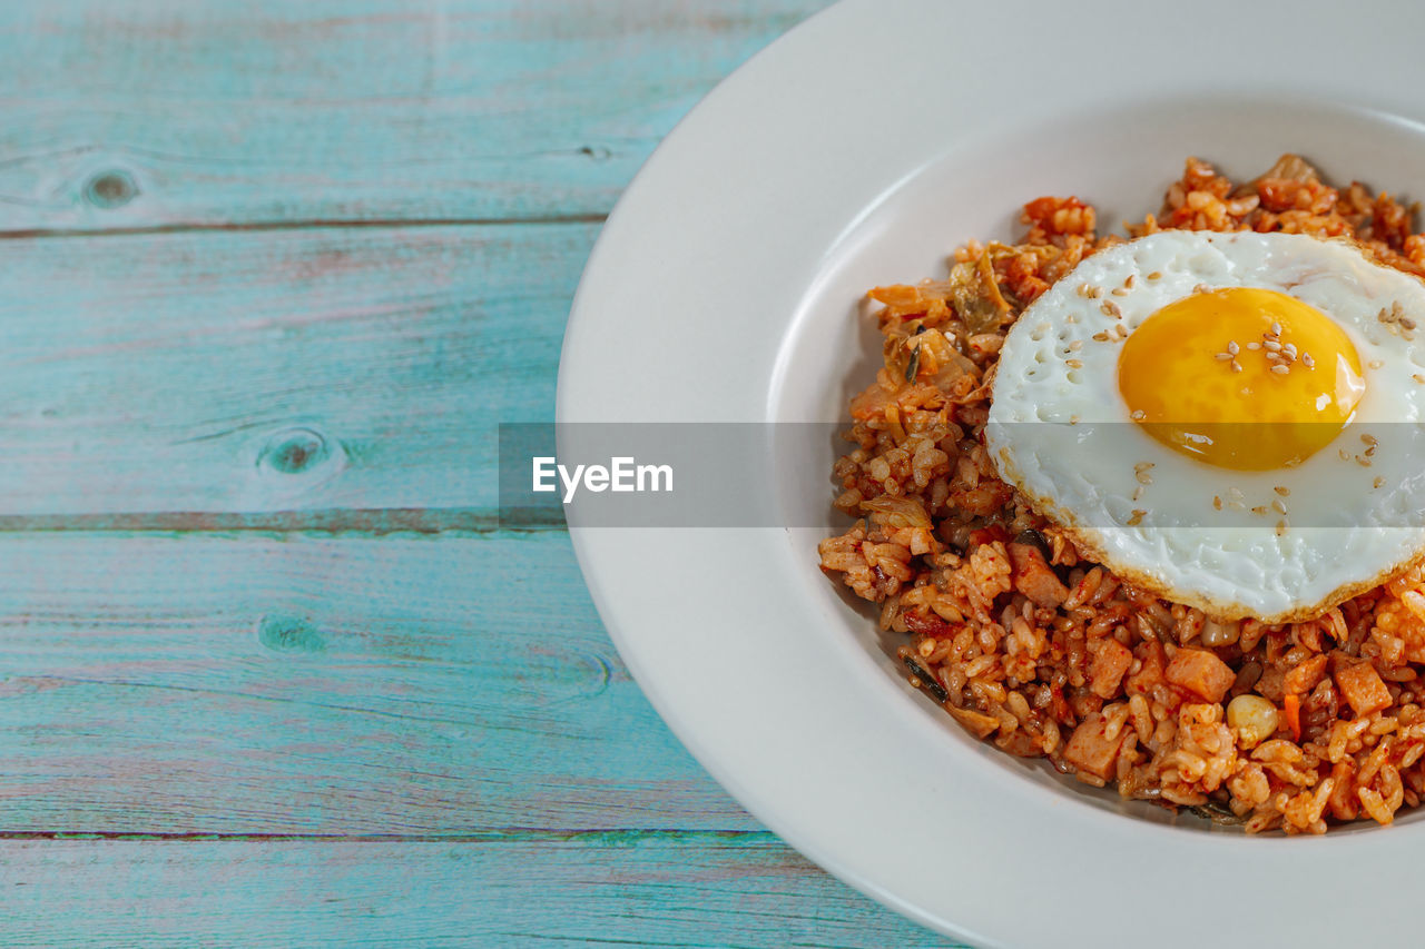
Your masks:
{"label": "wide-rimmed white ceramic plate holding the fried rice", "polygon": [[[1425,198],[1425,6],[851,0],[667,138],[579,289],[561,422],[836,420],[872,378],[865,288],[1012,238],[1022,202],[1159,207],[1196,154],[1284,151]],[[868,336],[869,333],[869,342]],[[982,745],[817,569],[834,449],[784,443],[788,524],[570,526],[610,634],[694,755],[828,871],[1015,946],[1369,945],[1405,935],[1425,825],[1247,838],[1123,808]],[[913,829],[913,831],[912,831]]]}

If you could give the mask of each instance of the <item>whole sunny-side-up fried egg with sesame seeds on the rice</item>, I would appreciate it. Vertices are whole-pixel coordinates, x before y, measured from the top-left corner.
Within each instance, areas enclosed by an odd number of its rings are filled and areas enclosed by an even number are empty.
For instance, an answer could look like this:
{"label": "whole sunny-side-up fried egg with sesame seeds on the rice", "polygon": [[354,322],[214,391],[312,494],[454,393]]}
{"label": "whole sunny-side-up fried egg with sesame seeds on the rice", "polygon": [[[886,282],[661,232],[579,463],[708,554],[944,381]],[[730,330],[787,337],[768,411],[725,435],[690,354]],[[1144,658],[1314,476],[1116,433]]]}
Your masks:
{"label": "whole sunny-side-up fried egg with sesame seeds on the rice", "polygon": [[1020,315],[986,445],[1130,583],[1221,620],[1312,617],[1425,554],[1418,332],[1425,284],[1352,244],[1163,231]]}

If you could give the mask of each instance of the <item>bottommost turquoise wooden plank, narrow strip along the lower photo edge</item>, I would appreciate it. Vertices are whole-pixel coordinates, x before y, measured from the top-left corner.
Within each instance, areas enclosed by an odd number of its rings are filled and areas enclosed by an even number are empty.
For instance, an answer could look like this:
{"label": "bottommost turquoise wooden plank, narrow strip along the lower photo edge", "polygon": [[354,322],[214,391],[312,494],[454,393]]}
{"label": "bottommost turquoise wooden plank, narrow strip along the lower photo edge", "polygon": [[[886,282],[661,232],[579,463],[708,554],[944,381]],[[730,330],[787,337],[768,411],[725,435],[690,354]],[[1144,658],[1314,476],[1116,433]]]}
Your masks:
{"label": "bottommost turquoise wooden plank, narrow strip along the lower photo edge", "polygon": [[9,842],[0,916],[7,946],[953,945],[768,834]]}

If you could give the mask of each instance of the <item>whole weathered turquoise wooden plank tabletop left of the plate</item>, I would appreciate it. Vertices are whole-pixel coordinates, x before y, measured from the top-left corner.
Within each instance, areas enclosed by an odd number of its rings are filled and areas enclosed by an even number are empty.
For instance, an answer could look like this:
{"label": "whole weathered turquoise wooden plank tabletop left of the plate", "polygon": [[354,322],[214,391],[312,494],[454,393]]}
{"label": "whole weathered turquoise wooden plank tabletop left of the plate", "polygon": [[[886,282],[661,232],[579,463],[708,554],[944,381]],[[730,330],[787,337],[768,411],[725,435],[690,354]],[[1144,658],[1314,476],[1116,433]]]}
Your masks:
{"label": "whole weathered turquoise wooden plank tabletop left of the plate", "polygon": [[948,945],[494,517],[613,201],[824,1],[0,7],[0,942]]}

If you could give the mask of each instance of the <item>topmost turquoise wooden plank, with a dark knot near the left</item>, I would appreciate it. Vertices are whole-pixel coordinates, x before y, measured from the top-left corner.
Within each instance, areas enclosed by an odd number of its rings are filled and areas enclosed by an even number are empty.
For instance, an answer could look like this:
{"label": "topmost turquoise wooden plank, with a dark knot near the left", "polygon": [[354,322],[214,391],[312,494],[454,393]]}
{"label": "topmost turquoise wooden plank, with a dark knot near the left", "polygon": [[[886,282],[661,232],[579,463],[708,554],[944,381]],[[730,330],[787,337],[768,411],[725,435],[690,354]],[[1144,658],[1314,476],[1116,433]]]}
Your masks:
{"label": "topmost turquoise wooden plank, with a dark knot near the left", "polygon": [[0,231],[597,218],[826,3],[7,4]]}

